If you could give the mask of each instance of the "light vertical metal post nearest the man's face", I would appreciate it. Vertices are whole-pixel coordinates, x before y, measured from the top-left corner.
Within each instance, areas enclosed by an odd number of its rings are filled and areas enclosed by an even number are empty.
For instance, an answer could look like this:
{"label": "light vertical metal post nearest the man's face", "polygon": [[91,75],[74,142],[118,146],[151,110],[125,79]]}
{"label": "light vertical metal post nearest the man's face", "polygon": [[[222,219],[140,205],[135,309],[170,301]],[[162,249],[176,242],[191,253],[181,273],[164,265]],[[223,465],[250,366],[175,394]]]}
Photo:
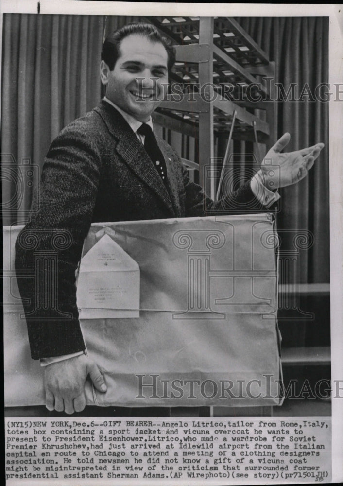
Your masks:
{"label": "light vertical metal post nearest the man's face", "polygon": [[[214,157],[213,134],[213,17],[200,17],[199,43],[208,45],[208,61],[199,63],[199,85],[201,95],[208,101],[208,111],[199,113],[199,174],[200,184],[212,199],[215,198],[215,180],[212,167]],[[204,89],[204,87],[206,87]],[[204,172],[204,166],[211,170]]]}

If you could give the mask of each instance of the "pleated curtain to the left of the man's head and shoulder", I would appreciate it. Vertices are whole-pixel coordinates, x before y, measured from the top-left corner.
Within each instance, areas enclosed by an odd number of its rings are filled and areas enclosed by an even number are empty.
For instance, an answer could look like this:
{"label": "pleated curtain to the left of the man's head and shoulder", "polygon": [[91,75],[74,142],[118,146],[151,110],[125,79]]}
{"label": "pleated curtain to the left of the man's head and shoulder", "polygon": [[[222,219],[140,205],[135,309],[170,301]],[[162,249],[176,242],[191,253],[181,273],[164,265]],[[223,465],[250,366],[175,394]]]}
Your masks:
{"label": "pleated curtain to the left of the man's head and shoulder", "polygon": [[[112,30],[133,19],[109,18]],[[106,20],[103,16],[78,15],[3,16],[1,152],[5,225],[25,223],[51,140],[70,121],[99,103]]]}

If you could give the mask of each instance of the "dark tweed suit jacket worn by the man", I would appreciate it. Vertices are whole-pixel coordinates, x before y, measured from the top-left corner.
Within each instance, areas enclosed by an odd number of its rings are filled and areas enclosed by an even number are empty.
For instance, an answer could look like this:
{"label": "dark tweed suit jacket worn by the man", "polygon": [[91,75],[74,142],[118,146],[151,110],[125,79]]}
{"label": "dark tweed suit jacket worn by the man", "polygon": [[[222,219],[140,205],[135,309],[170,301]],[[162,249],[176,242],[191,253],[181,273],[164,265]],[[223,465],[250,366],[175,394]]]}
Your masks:
{"label": "dark tweed suit jacket worn by the man", "polygon": [[[128,123],[105,101],[51,143],[38,197],[16,243],[17,282],[28,302],[24,309],[34,359],[85,349],[75,271],[91,223],[204,216],[204,208],[213,215],[240,202],[256,203],[250,183],[214,203],[189,180],[172,147],[157,141],[166,160],[166,185]],[[47,295],[25,273],[34,268],[34,250],[51,252],[51,242],[54,251],[58,247],[58,270],[50,276],[57,291]],[[46,278],[43,268],[36,272],[42,281]]]}

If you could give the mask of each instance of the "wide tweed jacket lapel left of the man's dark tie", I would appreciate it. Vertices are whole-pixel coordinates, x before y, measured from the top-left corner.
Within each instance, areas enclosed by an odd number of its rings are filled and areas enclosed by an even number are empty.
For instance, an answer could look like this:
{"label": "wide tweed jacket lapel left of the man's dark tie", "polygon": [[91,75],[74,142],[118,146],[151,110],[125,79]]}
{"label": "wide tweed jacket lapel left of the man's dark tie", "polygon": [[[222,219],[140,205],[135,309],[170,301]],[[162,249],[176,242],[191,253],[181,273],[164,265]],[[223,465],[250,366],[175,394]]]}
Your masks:
{"label": "wide tweed jacket lapel left of the man's dark tie", "polygon": [[175,216],[171,197],[157,169],[128,123],[113,106],[105,101],[102,101],[94,110],[102,117],[111,135],[118,140],[116,145],[118,155],[163,201],[172,216]]}

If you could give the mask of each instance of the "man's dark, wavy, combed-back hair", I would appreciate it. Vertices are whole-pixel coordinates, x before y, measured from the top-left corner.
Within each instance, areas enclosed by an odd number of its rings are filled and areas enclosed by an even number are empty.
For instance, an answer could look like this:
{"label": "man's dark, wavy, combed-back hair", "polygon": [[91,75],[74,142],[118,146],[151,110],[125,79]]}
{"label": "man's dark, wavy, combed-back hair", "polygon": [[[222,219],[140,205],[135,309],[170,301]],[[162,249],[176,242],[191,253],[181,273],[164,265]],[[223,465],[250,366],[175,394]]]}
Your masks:
{"label": "man's dark, wavy, combed-back hair", "polygon": [[168,74],[171,73],[172,67],[175,62],[175,50],[170,40],[162,35],[159,30],[152,24],[145,24],[136,22],[128,25],[124,25],[120,29],[112,32],[108,35],[103,43],[103,49],[101,52],[102,60],[107,64],[112,71],[116,65],[116,62],[120,56],[120,44],[121,41],[128,35],[141,35],[147,37],[152,42],[160,42],[168,54]]}

